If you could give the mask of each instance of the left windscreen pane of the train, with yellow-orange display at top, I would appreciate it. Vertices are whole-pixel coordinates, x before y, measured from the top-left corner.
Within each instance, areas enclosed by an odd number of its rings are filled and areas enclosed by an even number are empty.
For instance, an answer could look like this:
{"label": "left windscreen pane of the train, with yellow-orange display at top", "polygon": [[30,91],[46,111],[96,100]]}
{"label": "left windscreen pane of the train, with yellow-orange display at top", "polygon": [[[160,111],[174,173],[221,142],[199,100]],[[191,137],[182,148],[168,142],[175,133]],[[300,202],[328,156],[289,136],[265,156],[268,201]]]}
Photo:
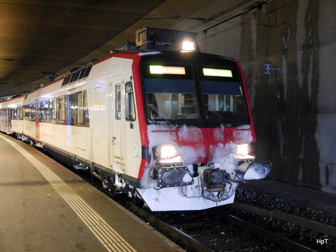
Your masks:
{"label": "left windscreen pane of the train, with yellow-orange display at top", "polygon": [[146,64],[143,85],[149,118],[199,118],[191,66]]}

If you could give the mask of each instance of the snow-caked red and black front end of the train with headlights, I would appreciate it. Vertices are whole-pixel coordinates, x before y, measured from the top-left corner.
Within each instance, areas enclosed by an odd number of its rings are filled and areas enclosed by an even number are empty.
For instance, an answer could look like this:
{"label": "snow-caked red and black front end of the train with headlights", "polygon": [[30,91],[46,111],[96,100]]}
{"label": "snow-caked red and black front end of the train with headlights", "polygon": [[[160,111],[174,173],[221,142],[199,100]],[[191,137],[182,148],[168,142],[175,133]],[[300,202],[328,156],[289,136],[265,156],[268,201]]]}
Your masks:
{"label": "snow-caked red and black front end of the train with headlights", "polygon": [[147,166],[140,167],[138,195],[151,210],[232,203],[238,181],[269,173],[269,162],[249,155],[255,134],[236,60],[200,52],[142,53],[139,69]]}

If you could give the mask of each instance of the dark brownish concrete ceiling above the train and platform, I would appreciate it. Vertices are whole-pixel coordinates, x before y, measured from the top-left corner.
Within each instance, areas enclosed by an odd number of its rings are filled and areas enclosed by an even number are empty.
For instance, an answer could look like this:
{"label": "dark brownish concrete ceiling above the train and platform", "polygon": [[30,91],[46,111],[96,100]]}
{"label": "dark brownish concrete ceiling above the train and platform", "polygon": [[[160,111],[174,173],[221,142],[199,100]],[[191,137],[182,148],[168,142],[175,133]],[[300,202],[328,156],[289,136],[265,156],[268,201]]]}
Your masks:
{"label": "dark brownish concrete ceiling above the train and platform", "polygon": [[49,82],[42,72],[61,75],[103,57],[140,27],[197,32],[264,1],[2,0],[0,96]]}

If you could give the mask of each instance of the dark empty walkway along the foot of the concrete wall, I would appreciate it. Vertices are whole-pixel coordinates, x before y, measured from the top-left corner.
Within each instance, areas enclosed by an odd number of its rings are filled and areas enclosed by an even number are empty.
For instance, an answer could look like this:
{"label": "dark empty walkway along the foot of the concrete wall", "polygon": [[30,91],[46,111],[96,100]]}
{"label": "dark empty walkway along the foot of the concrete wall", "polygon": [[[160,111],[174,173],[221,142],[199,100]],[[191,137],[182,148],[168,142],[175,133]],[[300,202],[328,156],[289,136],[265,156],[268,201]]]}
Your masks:
{"label": "dark empty walkway along the foot of the concrete wall", "polygon": [[336,217],[336,195],[275,180],[251,180],[239,186]]}

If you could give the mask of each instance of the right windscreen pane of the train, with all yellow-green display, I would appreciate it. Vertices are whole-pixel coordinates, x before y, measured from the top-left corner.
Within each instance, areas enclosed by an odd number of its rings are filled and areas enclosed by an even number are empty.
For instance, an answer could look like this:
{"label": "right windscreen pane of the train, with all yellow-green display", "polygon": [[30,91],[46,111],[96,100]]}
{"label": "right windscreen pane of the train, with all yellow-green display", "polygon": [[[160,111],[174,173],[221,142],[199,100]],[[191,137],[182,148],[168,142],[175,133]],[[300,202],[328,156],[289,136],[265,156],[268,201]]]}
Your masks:
{"label": "right windscreen pane of the train, with all yellow-green display", "polygon": [[[247,117],[245,99],[236,69],[199,68],[202,98],[207,118],[243,119]],[[216,115],[217,114],[217,115]]]}

